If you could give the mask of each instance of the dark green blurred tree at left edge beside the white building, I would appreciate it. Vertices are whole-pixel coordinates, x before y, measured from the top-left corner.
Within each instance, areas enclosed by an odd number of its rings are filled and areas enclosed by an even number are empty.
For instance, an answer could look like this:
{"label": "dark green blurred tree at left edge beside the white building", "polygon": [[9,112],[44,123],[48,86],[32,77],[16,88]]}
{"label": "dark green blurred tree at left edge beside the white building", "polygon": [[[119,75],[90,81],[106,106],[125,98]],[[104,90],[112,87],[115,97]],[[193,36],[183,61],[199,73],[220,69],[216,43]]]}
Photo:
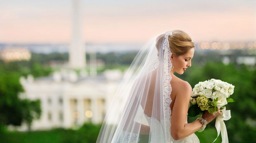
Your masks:
{"label": "dark green blurred tree at left edge beside the white building", "polygon": [[[40,101],[20,99],[19,93],[24,92],[19,83],[20,68],[14,63],[3,64],[0,62],[0,127],[3,125],[21,125],[22,122],[30,125],[33,119],[41,114]],[[10,70],[11,69],[11,70]]]}

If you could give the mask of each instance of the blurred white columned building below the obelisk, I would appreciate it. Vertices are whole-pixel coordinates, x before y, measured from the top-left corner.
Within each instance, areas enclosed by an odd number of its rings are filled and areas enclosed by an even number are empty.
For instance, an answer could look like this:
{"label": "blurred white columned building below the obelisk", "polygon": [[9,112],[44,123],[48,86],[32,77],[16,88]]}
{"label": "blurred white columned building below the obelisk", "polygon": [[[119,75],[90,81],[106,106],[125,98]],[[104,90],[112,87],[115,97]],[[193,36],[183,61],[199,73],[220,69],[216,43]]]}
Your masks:
{"label": "blurred white columned building below the obelisk", "polygon": [[[54,72],[50,77],[20,78],[24,93],[20,98],[39,99],[42,115],[32,130],[72,128],[85,122],[101,123],[122,79],[120,71],[105,71],[96,77],[78,76],[71,70]],[[27,130],[22,125],[20,130]]]}

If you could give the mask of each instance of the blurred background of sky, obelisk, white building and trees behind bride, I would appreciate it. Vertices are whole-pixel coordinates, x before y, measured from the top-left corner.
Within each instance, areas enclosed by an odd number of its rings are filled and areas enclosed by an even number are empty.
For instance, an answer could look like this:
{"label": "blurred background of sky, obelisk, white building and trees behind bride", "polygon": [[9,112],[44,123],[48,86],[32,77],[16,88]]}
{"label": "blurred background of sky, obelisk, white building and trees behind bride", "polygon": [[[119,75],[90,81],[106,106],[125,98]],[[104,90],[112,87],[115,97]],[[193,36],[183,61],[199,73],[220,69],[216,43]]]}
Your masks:
{"label": "blurred background of sky, obelisk, white building and trees behind bride", "polygon": [[[229,142],[256,142],[253,0],[0,0],[0,142],[96,142],[138,50],[174,29],[196,49],[178,76],[233,84]],[[214,122],[196,135],[212,142]]]}

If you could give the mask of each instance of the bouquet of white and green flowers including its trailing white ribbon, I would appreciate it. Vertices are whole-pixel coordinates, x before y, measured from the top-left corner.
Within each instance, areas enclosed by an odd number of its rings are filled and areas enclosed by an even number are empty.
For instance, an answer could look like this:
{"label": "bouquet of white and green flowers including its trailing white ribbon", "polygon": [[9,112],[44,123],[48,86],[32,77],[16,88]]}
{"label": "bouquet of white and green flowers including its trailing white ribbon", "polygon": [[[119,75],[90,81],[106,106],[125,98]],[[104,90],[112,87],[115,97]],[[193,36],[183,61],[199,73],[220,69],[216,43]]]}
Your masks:
{"label": "bouquet of white and green flowers including its trailing white ribbon", "polygon": [[231,114],[230,110],[226,110],[225,105],[229,102],[234,102],[230,98],[233,93],[234,85],[221,80],[210,79],[195,85],[190,100],[193,105],[189,107],[189,116],[196,116],[204,111],[215,113],[220,108],[221,113],[216,118],[215,127],[217,129],[217,138],[221,132],[222,143],[229,142],[224,120],[229,120]]}

